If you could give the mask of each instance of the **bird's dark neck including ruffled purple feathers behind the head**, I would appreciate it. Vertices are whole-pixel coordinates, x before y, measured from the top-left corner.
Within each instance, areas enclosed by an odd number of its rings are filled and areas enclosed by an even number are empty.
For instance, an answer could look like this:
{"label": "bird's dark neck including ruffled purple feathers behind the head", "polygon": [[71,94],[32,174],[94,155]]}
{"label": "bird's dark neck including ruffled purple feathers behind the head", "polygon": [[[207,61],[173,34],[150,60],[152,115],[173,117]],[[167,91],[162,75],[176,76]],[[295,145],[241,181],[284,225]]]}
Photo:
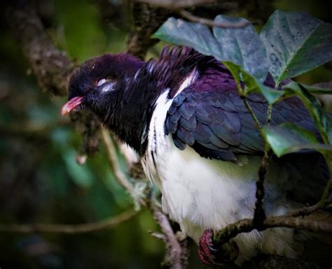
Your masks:
{"label": "bird's dark neck including ruffled purple feathers behind the head", "polygon": [[184,52],[162,52],[163,57],[146,62],[133,75],[128,76],[123,82],[123,90],[117,97],[115,107],[111,109],[112,115],[106,120],[109,128],[141,156],[146,151],[148,126],[158,97],[170,90],[168,97],[172,99],[198,61],[211,61],[189,48]]}

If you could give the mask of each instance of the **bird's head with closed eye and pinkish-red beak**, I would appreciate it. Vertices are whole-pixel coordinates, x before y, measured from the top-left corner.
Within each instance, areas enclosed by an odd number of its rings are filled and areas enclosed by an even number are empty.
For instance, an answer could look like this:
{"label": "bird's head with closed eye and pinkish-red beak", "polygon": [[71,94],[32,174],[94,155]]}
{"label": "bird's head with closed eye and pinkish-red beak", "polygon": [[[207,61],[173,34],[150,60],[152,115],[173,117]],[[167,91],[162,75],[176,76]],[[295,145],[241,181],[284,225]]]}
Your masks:
{"label": "bird's head with closed eye and pinkish-red beak", "polygon": [[129,54],[104,54],[88,59],[71,75],[68,102],[62,107],[62,115],[83,109],[105,115],[143,64],[144,61]]}

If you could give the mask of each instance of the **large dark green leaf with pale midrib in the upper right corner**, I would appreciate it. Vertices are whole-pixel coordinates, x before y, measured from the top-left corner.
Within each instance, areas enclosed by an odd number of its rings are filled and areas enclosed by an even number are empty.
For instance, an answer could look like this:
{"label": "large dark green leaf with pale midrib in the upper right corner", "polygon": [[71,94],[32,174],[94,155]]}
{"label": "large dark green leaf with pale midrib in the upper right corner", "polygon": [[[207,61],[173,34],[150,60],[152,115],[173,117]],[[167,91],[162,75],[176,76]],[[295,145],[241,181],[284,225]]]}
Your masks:
{"label": "large dark green leaf with pale midrib in the upper right corner", "polygon": [[277,85],[332,59],[332,24],[304,12],[276,10],[261,31]]}

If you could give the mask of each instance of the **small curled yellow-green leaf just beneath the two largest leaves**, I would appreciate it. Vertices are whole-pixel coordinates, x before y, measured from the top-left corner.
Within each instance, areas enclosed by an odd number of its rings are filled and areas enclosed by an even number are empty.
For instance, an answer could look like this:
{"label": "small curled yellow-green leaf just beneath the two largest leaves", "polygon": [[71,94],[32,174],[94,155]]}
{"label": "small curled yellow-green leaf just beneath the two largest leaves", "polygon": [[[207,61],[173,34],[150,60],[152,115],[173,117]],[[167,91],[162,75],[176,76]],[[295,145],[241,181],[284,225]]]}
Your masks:
{"label": "small curled yellow-green leaf just beneath the two largest leaves", "polygon": [[[223,64],[228,68],[230,73],[233,75],[240,95],[261,93],[268,101],[268,103],[272,105],[284,94],[284,91],[265,86],[263,85],[263,83],[258,82],[256,78],[254,78],[252,75],[244,71],[244,69],[241,66],[233,64],[233,62],[231,61],[223,61]],[[243,89],[241,87],[240,82],[244,82]]]}

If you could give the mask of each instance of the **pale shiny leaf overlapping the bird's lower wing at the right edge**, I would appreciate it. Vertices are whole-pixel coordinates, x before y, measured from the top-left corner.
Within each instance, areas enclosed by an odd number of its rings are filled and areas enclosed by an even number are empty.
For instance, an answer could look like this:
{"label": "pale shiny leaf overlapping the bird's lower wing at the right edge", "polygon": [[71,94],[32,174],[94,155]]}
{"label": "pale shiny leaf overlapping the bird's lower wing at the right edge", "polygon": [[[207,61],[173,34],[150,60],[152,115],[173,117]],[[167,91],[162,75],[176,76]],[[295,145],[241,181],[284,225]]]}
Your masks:
{"label": "pale shiny leaf overlapping the bird's lower wing at the right edge", "polygon": [[263,131],[277,157],[308,149],[321,152],[332,151],[332,145],[319,143],[314,133],[296,124],[285,123],[275,126],[264,126]]}

